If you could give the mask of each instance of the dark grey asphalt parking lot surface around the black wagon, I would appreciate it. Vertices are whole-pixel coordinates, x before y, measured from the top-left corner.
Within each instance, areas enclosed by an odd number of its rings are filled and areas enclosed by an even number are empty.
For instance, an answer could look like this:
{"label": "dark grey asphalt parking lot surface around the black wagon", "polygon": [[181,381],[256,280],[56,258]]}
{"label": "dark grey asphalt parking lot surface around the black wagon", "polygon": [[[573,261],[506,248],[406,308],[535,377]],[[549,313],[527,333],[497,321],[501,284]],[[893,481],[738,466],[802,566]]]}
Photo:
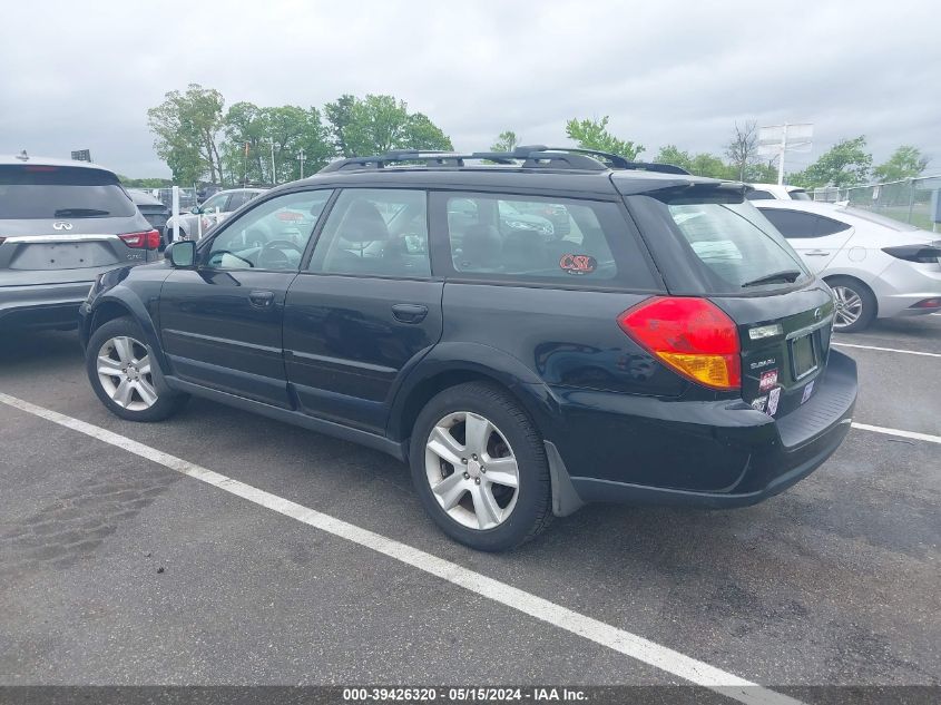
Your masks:
{"label": "dark grey asphalt parking lot surface around the black wagon", "polygon": [[[0,393],[749,682],[938,686],[941,315],[836,340],[854,421],[922,437],[853,429],[756,507],[588,507],[504,555],[447,540],[378,452],[198,400],[112,417],[73,333],[4,335]],[[0,403],[0,684],[684,683],[343,531]]]}

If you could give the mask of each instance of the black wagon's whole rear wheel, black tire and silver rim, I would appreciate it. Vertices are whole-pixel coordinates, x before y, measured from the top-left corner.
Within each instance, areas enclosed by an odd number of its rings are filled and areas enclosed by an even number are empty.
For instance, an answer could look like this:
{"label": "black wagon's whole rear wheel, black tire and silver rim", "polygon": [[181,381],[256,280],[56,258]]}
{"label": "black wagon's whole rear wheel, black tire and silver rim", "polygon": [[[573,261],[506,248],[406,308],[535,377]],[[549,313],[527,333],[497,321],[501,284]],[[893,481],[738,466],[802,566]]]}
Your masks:
{"label": "black wagon's whole rear wheel, black tire and silver rim", "polygon": [[410,462],[425,511],[471,548],[516,548],[552,519],[542,438],[494,384],[469,382],[434,396],[415,421]]}

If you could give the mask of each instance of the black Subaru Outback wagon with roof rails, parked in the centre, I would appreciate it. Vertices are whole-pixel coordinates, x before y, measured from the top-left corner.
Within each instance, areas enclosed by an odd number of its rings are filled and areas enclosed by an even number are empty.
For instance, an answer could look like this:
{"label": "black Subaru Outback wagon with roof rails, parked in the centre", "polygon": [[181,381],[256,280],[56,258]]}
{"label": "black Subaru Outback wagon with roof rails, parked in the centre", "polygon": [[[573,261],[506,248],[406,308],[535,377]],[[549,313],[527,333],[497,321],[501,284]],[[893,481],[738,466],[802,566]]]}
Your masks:
{"label": "black Subaru Outback wagon with roof rails, parked in the centre", "polygon": [[585,502],[749,505],[840,445],[833,300],[742,184],[523,147],[334,163],[81,311],[108,409],[189,394],[406,461],[501,550]]}

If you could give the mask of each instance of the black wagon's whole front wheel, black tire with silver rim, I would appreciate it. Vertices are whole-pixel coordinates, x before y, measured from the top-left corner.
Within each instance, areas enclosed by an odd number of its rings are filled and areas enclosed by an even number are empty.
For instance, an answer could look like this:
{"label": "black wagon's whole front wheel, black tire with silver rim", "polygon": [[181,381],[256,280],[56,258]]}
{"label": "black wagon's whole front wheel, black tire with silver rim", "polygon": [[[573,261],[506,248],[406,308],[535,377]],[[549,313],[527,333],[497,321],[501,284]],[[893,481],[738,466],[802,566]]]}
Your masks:
{"label": "black wagon's whole front wheel, black tire with silver rim", "polygon": [[161,421],[188,399],[156,381],[157,362],[134,319],[115,319],[98,327],[88,341],[85,366],[101,403],[128,421]]}

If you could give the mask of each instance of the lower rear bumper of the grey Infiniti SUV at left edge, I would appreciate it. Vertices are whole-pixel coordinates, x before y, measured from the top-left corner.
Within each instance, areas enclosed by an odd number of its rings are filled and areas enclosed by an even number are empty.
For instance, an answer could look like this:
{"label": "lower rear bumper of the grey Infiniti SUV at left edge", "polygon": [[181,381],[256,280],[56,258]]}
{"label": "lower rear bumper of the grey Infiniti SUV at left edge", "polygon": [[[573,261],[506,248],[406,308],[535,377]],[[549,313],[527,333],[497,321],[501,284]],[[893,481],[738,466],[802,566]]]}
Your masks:
{"label": "lower rear bumper of the grey Infiniti SUV at left edge", "polygon": [[0,286],[0,329],[65,327],[78,324],[78,310],[94,282]]}

